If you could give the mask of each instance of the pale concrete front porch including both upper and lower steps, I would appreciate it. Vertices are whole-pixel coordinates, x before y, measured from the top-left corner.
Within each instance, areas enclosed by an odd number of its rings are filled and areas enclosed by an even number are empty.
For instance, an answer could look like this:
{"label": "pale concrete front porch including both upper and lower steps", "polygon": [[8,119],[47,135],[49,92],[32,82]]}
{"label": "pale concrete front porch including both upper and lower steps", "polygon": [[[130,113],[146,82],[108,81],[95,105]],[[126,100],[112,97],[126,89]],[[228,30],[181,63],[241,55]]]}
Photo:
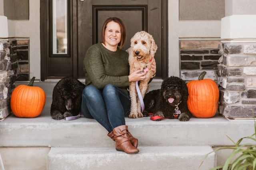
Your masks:
{"label": "pale concrete front porch including both upper and lower steps", "polygon": [[[16,86],[20,83],[16,82]],[[138,154],[129,155],[115,150],[115,142],[94,119],[53,120],[50,105],[55,84],[34,84],[47,94],[46,106],[39,117],[25,119],[11,114],[0,123],[0,154],[5,169],[196,170],[214,148],[233,144],[226,135],[237,141],[254,134],[254,121],[228,121],[220,114],[210,119],[192,118],[188,122],[127,117],[126,124],[138,138],[140,149]],[[153,81],[150,90],[159,85],[160,82]],[[223,164],[226,154],[211,154],[200,169]]]}

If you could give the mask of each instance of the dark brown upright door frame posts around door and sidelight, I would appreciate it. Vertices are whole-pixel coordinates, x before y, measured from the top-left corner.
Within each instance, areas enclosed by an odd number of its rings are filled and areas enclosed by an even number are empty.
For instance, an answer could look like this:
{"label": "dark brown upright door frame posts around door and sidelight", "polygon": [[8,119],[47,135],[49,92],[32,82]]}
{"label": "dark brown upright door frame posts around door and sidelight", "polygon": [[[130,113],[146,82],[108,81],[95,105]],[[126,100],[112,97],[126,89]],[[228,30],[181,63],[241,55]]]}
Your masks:
{"label": "dark brown upright door frame posts around door and sidelight", "polygon": [[[70,0],[69,19],[72,26],[70,28],[70,54],[73,57],[73,63],[77,63],[77,0]],[[40,56],[41,73],[40,80],[47,79],[47,57],[50,55],[50,0],[40,0]],[[92,21],[93,22],[93,21]],[[168,0],[162,0],[162,78],[168,77]],[[73,77],[77,79],[78,67],[73,64]],[[59,77],[60,78],[60,77]]]}

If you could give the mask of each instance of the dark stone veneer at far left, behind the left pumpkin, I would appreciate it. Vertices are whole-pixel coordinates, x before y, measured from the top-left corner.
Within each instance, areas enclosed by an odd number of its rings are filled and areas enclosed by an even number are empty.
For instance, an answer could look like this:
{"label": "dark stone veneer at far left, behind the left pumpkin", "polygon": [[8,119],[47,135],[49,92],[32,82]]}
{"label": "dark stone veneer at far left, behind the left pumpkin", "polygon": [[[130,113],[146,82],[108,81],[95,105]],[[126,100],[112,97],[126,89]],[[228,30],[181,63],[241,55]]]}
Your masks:
{"label": "dark stone veneer at far left, behind the left pumpkin", "polygon": [[0,39],[0,119],[11,113],[15,81],[29,79],[28,44],[27,39]]}

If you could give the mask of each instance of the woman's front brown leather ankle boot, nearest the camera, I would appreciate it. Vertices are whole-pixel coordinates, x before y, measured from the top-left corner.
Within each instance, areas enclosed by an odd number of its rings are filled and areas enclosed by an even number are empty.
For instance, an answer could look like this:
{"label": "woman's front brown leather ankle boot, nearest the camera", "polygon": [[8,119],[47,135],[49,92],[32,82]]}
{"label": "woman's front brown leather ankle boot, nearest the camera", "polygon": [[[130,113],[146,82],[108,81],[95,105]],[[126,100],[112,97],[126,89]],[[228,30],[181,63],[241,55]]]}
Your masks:
{"label": "woman's front brown leather ankle boot, nearest the camera", "polygon": [[132,146],[129,136],[128,127],[121,125],[113,129],[114,141],[116,141],[116,150],[126,152],[127,154],[136,154],[140,150]]}

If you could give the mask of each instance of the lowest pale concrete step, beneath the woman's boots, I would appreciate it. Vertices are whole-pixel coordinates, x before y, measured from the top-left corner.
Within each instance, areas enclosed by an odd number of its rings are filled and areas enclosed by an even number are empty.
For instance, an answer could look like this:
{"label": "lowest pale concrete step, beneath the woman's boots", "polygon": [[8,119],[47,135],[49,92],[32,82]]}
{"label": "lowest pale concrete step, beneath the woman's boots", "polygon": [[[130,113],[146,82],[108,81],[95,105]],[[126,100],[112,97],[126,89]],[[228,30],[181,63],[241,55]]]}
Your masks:
{"label": "lowest pale concrete step, beneath the woman's boots", "polygon": [[[198,170],[210,146],[140,147],[138,154],[111,148],[51,148],[48,170]],[[200,170],[215,167],[215,153],[208,156]]]}

